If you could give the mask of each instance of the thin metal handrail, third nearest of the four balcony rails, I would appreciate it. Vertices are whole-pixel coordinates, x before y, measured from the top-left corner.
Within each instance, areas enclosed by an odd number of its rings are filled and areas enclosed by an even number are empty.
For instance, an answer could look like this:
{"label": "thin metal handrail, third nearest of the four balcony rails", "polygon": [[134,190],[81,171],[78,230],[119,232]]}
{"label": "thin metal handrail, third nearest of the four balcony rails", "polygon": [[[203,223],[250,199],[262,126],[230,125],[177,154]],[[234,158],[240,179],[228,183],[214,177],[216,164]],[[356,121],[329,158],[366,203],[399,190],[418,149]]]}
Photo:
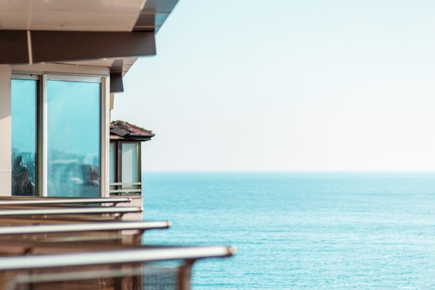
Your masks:
{"label": "thin metal handrail, third nearest of the four balcony rails", "polygon": [[128,214],[140,213],[143,207],[74,207],[61,209],[0,209],[0,216],[42,216],[67,214]]}

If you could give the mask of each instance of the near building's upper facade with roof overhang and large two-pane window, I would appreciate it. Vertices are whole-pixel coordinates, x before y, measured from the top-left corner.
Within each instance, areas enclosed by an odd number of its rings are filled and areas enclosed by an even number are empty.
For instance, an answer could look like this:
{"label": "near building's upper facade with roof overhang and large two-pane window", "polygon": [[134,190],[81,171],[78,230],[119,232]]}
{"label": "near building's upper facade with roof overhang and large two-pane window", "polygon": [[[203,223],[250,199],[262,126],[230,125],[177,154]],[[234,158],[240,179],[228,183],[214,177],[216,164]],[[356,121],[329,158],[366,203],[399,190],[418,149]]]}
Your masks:
{"label": "near building's upper facade with roof overhang and large two-pane window", "polygon": [[176,3],[0,3],[0,195],[110,195],[110,106]]}

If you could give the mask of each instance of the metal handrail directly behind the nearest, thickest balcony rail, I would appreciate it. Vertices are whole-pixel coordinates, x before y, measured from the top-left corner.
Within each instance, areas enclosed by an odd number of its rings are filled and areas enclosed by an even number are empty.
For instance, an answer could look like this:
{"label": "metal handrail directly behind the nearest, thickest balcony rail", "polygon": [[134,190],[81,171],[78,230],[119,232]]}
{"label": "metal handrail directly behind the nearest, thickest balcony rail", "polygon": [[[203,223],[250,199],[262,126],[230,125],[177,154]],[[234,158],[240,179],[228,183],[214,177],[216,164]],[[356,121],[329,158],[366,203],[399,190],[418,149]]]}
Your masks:
{"label": "metal handrail directly behind the nearest, thickest balcony rail", "polygon": [[167,229],[171,223],[168,221],[149,222],[111,222],[111,223],[81,223],[66,225],[20,225],[11,227],[0,227],[0,236],[16,234],[54,234],[69,232],[102,232],[136,229],[144,232],[148,229]]}

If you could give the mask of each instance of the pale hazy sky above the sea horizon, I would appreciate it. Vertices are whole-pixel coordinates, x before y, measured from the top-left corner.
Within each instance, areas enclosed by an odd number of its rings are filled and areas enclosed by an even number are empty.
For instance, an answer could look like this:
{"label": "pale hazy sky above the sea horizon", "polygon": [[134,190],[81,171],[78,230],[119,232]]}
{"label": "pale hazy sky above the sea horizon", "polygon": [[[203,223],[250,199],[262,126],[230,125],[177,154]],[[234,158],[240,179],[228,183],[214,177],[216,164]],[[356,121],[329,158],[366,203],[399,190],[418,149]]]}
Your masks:
{"label": "pale hazy sky above the sea horizon", "polygon": [[179,0],[156,43],[145,170],[435,170],[433,0]]}

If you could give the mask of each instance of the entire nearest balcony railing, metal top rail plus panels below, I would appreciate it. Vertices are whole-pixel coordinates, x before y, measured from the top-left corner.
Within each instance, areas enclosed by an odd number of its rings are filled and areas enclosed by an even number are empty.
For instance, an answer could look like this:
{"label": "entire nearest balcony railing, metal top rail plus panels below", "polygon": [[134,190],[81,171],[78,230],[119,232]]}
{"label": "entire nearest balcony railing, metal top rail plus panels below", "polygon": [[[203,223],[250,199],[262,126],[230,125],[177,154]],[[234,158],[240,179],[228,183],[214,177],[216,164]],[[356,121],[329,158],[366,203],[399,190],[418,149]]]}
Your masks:
{"label": "entire nearest balcony railing, metal top rail plus panels below", "polygon": [[[0,258],[0,289],[189,290],[195,261],[235,252],[228,246],[177,246]],[[170,268],[153,265],[180,260]]]}

